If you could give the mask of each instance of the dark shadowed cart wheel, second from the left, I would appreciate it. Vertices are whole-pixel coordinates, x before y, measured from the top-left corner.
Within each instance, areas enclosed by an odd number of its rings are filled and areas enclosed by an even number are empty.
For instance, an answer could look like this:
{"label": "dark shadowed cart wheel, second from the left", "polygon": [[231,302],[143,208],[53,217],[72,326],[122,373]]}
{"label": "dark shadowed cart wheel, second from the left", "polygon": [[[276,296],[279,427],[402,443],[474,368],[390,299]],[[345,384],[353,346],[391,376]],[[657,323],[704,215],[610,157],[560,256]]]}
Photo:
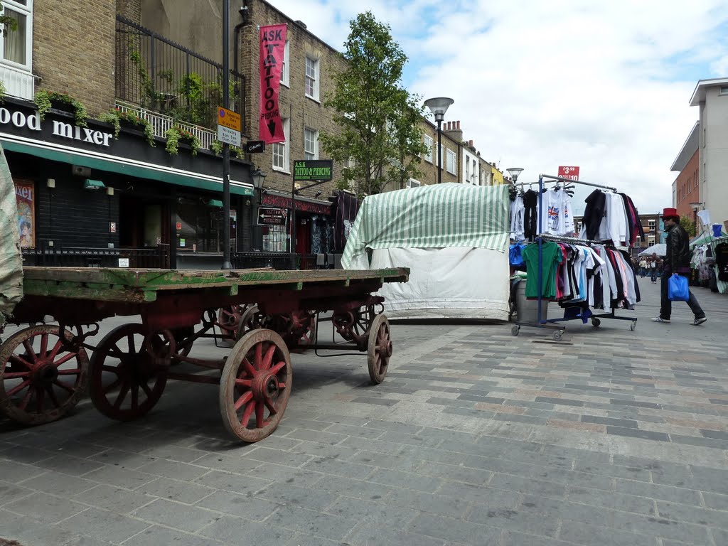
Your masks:
{"label": "dark shadowed cart wheel, second from the left", "polygon": [[91,400],[98,411],[130,421],[154,408],[167,384],[173,343],[171,334],[146,336],[141,324],[124,324],[106,334],[91,357]]}

